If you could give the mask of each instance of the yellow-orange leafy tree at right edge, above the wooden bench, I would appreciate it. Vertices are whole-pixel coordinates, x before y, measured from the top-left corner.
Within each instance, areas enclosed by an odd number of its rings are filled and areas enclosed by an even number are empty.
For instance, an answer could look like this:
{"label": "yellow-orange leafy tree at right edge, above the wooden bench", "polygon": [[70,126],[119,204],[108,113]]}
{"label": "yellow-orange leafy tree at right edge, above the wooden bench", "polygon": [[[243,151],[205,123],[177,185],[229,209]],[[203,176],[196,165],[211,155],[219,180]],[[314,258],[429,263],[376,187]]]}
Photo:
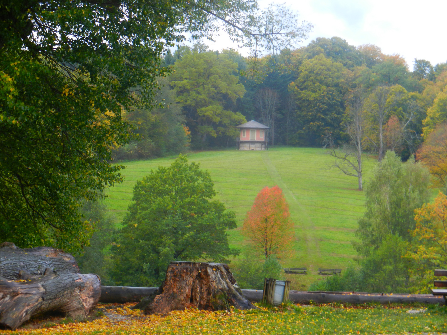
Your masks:
{"label": "yellow-orange leafy tree at right edge, above the wooden bench", "polygon": [[415,293],[430,292],[434,269],[447,266],[447,197],[442,192],[432,204],[415,209],[416,227],[411,232],[414,243],[405,258],[410,261],[415,278]]}

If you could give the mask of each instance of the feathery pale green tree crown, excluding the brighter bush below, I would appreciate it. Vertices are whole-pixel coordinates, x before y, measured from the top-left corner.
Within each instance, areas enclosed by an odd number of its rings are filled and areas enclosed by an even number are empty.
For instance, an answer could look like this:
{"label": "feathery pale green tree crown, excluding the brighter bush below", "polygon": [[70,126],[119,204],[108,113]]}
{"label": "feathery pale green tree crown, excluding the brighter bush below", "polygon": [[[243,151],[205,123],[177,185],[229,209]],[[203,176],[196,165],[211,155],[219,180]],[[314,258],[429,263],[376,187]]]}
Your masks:
{"label": "feathery pale green tree crown, excluding the brighter bush below", "polygon": [[430,195],[430,173],[414,158],[402,163],[393,151],[387,151],[373,173],[366,187],[366,211],[356,231],[360,238],[356,249],[365,256],[380,247],[387,235],[409,241],[409,231],[415,226],[414,209]]}

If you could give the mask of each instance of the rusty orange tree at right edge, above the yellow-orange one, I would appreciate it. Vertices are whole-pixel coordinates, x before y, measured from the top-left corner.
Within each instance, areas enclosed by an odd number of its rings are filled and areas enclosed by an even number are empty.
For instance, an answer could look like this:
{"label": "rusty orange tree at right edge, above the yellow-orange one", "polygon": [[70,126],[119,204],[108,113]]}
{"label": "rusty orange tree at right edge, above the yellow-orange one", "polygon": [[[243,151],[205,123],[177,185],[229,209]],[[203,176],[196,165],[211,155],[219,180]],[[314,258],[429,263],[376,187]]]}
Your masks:
{"label": "rusty orange tree at right edge, above the yellow-orange one", "polygon": [[437,126],[427,136],[416,157],[428,167],[434,186],[443,187],[447,181],[447,124]]}

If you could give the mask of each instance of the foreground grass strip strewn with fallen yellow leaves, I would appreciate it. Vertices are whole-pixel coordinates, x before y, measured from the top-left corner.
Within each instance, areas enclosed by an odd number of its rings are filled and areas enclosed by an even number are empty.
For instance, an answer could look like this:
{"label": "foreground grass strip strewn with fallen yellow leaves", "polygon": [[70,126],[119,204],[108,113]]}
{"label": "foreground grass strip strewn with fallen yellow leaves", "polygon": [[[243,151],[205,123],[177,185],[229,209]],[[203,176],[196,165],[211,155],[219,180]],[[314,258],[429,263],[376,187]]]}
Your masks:
{"label": "foreground grass strip strewn with fallen yellow leaves", "polygon": [[[98,307],[101,307],[100,304]],[[259,310],[202,311],[144,315],[126,306],[105,306],[89,322],[34,320],[7,335],[324,335],[441,334],[447,331],[445,306],[293,306]],[[110,308],[114,309],[110,309]],[[118,307],[118,308],[116,308]],[[425,306],[426,307],[426,306]]]}

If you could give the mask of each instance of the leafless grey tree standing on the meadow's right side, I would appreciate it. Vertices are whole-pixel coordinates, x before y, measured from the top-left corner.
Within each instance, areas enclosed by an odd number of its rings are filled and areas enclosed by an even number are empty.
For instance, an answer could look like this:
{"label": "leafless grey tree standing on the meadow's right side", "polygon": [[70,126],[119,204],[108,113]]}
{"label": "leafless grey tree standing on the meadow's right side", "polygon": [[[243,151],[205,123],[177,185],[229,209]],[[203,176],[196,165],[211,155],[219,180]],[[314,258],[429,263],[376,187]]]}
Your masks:
{"label": "leafless grey tree standing on the meadow's right side", "polygon": [[329,147],[329,155],[335,158],[331,167],[337,167],[347,176],[358,178],[358,189],[363,190],[362,171],[362,140],[364,137],[364,105],[365,93],[361,88],[355,90],[348,99],[346,121],[344,127],[350,141],[336,148],[330,134],[325,137],[325,147]]}

